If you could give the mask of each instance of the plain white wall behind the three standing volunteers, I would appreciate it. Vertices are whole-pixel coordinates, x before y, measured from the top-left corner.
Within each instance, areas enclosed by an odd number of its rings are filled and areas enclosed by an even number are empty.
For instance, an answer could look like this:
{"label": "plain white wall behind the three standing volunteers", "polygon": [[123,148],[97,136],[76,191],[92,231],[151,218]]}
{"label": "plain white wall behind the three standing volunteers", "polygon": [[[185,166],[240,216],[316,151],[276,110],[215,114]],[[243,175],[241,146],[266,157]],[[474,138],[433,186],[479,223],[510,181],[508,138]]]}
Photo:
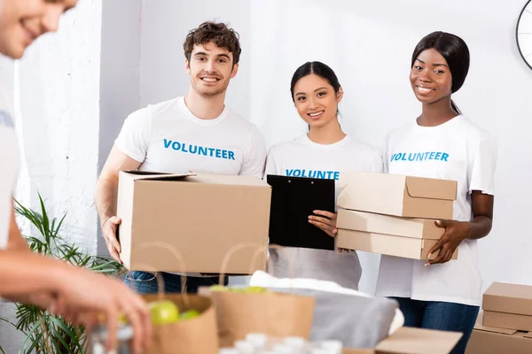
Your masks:
{"label": "plain white wall behind the three standing volunteers", "polygon": [[[269,145],[305,132],[290,98],[290,79],[305,61],[321,60],[336,71],[345,91],[343,127],[380,146],[390,129],[420,112],[408,81],[416,43],[434,30],[460,35],[469,45],[472,63],[454,99],[473,121],[496,134],[500,144],[494,228],[480,242],[484,288],[492,281],[532,283],[527,251],[532,250],[532,238],[523,225],[532,209],[532,71],[515,43],[524,3],[153,2],[143,12],[141,105],[186,90],[181,50],[186,30],[216,18],[230,21],[246,41],[242,65],[249,70],[248,83],[231,83],[230,97],[236,91],[238,99],[228,99],[228,105],[254,121]],[[378,258],[364,254],[363,265],[361,288],[372,291]]]}

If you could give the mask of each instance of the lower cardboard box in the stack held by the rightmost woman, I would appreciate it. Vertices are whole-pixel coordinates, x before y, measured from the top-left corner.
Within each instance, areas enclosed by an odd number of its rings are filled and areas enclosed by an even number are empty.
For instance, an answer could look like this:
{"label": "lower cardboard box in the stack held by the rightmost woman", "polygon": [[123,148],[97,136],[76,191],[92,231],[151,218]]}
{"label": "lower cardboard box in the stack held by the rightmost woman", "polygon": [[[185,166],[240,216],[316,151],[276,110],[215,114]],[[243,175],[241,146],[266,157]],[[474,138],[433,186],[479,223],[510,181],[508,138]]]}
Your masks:
{"label": "lower cardboard box in the stack held by the rightmost woman", "polygon": [[[394,216],[338,210],[336,245],[412,259],[426,259],[445,231],[434,219],[405,219]],[[431,258],[436,258],[437,252]],[[458,249],[452,259],[458,258]]]}

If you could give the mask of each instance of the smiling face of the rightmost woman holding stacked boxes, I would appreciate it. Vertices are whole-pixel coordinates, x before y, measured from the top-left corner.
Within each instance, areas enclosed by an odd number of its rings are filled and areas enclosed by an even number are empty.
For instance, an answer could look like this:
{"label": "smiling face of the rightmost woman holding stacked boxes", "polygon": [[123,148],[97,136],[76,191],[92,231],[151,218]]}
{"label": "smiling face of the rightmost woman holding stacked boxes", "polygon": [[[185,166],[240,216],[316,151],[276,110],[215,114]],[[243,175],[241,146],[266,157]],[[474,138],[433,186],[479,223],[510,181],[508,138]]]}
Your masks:
{"label": "smiling face of the rightmost woman holding stacked boxes", "polygon": [[411,87],[422,103],[434,103],[450,97],[452,75],[445,58],[437,50],[423,50],[414,61]]}

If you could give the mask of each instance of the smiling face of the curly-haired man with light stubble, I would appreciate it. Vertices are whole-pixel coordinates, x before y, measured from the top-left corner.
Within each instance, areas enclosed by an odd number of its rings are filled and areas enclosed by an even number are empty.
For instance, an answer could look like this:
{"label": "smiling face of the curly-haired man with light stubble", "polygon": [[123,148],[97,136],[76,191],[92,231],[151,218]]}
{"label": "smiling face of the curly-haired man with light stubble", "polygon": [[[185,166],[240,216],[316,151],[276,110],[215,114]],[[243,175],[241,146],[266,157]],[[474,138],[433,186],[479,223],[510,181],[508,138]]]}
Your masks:
{"label": "smiling face of the curly-haired man with light stubble", "polygon": [[194,45],[190,61],[185,61],[186,72],[191,75],[192,89],[204,97],[222,94],[239,71],[239,65],[232,63],[232,53],[213,42]]}

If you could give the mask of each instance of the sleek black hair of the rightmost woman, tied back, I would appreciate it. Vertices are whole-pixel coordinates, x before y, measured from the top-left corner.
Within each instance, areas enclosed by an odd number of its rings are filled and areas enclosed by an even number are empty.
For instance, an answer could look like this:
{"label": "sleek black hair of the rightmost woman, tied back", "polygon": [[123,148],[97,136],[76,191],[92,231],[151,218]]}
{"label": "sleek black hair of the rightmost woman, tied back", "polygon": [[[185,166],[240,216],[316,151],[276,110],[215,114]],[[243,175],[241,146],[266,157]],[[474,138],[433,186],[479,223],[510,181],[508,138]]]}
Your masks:
{"label": "sleek black hair of the rightmost woman, tied back", "polygon": [[[423,37],[412,54],[411,67],[423,50],[434,49],[442,55],[449,65],[452,76],[451,92],[455,93],[462,87],[469,71],[469,49],[458,35],[437,31]],[[450,100],[452,109],[461,114],[458,106]]]}

